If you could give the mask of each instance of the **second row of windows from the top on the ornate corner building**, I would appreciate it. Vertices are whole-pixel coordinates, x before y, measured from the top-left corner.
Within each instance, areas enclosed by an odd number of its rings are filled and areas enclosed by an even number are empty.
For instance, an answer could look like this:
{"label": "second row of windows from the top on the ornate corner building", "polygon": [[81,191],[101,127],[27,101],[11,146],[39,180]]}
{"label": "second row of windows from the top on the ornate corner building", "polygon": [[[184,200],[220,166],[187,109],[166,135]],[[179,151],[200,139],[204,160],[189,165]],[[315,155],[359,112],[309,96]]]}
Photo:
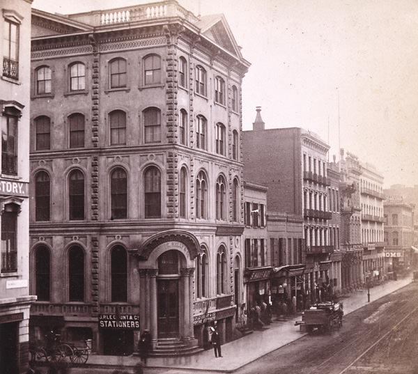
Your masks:
{"label": "second row of windows from the top on the ornate corner building", "polygon": [[[144,124],[144,143],[160,143],[162,141],[162,115],[160,109],[148,107],[142,111]],[[109,121],[109,144],[123,146],[127,141],[127,114],[120,109],[111,111]],[[189,145],[188,116],[185,109],[180,109],[178,141],[185,146]],[[36,150],[51,149],[51,118],[38,116],[34,120]],[[226,127],[223,123],[215,125],[215,152],[226,156]],[[68,116],[68,147],[84,148],[86,138],[86,118],[84,114],[73,113]],[[54,138],[52,138],[54,139]],[[208,150],[208,120],[204,116],[196,117],[196,147]],[[232,158],[238,159],[238,131],[232,134]]]}

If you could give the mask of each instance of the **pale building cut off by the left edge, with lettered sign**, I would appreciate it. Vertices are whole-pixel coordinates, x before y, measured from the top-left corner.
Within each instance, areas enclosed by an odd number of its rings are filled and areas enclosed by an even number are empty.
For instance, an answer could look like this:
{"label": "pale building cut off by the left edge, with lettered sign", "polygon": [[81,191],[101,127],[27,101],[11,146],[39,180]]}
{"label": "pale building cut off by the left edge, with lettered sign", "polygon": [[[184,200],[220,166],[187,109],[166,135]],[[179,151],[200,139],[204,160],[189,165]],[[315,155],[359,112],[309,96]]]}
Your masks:
{"label": "pale building cut off by the left edge, with lettered sign", "polygon": [[31,0],[0,3],[0,371],[29,359],[29,126]]}

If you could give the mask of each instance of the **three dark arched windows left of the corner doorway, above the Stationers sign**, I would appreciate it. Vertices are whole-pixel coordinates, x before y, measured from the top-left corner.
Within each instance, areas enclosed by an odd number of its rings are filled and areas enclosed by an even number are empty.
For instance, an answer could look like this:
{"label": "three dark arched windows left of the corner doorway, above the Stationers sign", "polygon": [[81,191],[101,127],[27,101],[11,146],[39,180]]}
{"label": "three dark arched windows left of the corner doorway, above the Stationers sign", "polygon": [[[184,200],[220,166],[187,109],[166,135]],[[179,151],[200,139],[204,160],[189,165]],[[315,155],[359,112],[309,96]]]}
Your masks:
{"label": "three dark arched windows left of the corner doorway, above the Stationers sign", "polygon": [[[68,249],[65,269],[68,279],[68,302],[84,302],[86,299],[84,249],[73,245]],[[127,251],[116,245],[110,252],[110,290],[112,302],[127,302]],[[35,249],[35,293],[38,301],[49,301],[52,288],[51,251],[45,245]]]}

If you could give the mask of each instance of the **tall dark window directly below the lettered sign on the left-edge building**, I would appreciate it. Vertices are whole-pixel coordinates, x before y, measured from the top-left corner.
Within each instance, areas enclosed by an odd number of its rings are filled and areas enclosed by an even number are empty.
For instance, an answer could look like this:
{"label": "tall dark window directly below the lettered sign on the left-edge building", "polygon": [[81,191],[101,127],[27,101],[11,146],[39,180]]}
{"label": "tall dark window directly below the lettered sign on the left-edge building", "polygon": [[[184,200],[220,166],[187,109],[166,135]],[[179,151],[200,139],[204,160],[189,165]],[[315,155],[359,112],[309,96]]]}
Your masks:
{"label": "tall dark window directly below the lettered sign on the left-edge building", "polygon": [[16,229],[17,213],[3,212],[1,215],[1,272],[17,271]]}

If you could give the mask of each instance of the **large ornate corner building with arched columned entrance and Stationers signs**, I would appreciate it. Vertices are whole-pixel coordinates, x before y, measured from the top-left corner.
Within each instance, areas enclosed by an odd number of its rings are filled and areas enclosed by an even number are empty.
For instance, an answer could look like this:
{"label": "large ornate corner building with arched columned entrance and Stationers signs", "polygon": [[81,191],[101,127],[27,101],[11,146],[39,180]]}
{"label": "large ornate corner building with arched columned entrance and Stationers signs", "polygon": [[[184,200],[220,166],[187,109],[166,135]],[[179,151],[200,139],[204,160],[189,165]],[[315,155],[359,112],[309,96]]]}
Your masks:
{"label": "large ornate corner building with arched columned entrance and Stationers signs", "polygon": [[[194,352],[242,286],[242,58],[176,1],[32,12],[31,336]],[[234,297],[235,295],[235,297]],[[238,298],[238,299],[237,299]]]}

